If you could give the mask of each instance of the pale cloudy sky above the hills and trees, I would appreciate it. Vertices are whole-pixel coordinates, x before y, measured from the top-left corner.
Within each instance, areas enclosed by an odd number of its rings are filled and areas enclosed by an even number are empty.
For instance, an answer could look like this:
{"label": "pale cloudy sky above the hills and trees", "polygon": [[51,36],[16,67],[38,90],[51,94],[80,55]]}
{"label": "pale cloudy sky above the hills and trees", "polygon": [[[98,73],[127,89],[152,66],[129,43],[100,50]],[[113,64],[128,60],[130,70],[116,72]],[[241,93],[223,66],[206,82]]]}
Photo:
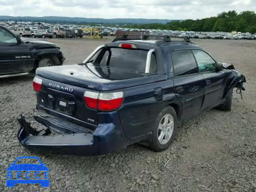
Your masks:
{"label": "pale cloudy sky above the hills and trees", "polygon": [[0,15],[200,19],[256,10],[256,0],[0,0]]}

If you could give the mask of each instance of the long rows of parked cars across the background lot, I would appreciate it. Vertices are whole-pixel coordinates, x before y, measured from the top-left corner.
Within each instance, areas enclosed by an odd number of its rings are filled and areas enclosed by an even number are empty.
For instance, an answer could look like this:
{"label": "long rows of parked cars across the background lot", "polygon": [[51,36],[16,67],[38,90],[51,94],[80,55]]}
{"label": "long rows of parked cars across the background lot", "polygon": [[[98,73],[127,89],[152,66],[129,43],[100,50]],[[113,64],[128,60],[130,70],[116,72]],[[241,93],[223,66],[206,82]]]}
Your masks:
{"label": "long rows of parked cars across the background lot", "polygon": [[[160,30],[160,29],[132,29],[124,28],[120,26],[116,27],[105,27],[105,26],[84,26],[84,25],[56,25],[56,24],[45,24],[45,23],[35,23],[32,25],[31,22],[17,22],[16,25],[10,22],[7,22],[5,25],[9,30],[13,31],[15,34],[20,37],[31,36],[31,37],[41,37],[41,38],[82,38],[84,35],[89,36],[92,32],[92,35],[97,33],[90,29],[99,29],[98,35],[102,36],[116,36],[117,31],[126,31],[126,32],[147,32],[150,35],[168,35],[172,38],[184,38],[188,36],[189,38],[200,38],[200,39],[230,39],[230,40],[240,40],[248,39],[255,40],[256,34],[241,33],[241,32],[194,32],[194,31],[172,31],[172,30]],[[85,30],[85,29],[88,30]],[[44,31],[41,31],[44,30]],[[50,35],[52,31],[52,36]],[[48,34],[46,34],[48,33]],[[34,34],[34,35],[32,35]]]}

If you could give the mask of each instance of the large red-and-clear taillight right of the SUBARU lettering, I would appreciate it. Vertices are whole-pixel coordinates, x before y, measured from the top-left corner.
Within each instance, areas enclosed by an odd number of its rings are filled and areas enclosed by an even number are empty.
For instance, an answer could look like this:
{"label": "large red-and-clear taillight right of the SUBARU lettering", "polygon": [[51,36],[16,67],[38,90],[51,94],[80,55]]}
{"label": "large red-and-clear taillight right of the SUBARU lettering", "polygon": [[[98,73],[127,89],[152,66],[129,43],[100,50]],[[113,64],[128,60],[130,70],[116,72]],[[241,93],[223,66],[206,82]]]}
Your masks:
{"label": "large red-and-clear taillight right of the SUBARU lettering", "polygon": [[122,104],[123,98],[124,92],[84,92],[84,102],[86,103],[86,106],[100,111],[112,111],[118,109]]}

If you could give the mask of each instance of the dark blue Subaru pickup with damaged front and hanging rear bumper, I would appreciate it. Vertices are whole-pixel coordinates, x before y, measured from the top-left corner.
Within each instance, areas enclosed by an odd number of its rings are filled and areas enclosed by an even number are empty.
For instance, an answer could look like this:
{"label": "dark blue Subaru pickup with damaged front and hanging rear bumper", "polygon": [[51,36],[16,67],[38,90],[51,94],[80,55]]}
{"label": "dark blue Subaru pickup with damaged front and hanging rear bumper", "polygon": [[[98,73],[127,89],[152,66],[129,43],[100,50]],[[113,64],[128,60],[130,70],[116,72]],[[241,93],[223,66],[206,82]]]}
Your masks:
{"label": "dark blue Subaru pickup with damaged front and hanging rear bumper", "polygon": [[[18,139],[36,152],[100,155],[136,142],[154,151],[204,110],[230,110],[245,77],[190,42],[115,39],[81,64],[38,68],[37,131],[18,117]],[[242,94],[241,94],[242,96]],[[56,133],[58,132],[58,133]]]}

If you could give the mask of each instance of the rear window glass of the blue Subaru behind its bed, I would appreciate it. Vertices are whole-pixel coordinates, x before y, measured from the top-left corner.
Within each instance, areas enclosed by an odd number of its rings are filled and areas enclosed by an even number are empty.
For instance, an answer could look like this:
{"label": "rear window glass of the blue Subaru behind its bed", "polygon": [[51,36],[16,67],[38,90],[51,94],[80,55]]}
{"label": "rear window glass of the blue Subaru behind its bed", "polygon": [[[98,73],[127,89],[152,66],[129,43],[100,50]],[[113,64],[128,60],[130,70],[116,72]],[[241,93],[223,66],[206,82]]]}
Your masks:
{"label": "rear window glass of the blue Subaru behind its bed", "polygon": [[[129,72],[145,73],[148,50],[104,48],[91,59],[96,66],[119,68]],[[156,57],[151,56],[150,73],[157,72]]]}

